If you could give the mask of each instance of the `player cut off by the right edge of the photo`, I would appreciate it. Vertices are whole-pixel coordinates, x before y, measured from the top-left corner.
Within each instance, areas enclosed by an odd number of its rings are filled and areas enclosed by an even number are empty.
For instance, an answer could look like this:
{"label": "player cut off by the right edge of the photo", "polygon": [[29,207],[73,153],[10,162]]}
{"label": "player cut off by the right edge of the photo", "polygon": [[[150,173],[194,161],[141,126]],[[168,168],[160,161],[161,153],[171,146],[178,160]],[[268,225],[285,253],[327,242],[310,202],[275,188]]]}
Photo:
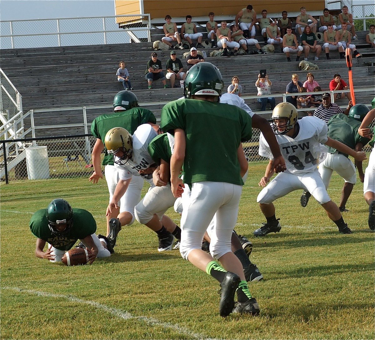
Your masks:
{"label": "player cut off by the right edge of the photo", "polygon": [[[373,106],[374,107],[374,106]],[[365,200],[369,205],[369,227],[371,230],[375,230],[375,126],[373,131],[368,128],[371,122],[375,118],[375,108],[366,114],[363,119],[362,124],[358,128],[358,133],[365,138],[372,138],[370,145],[372,146],[372,151],[369,158],[369,165],[365,170],[365,181],[363,182],[363,194]]]}

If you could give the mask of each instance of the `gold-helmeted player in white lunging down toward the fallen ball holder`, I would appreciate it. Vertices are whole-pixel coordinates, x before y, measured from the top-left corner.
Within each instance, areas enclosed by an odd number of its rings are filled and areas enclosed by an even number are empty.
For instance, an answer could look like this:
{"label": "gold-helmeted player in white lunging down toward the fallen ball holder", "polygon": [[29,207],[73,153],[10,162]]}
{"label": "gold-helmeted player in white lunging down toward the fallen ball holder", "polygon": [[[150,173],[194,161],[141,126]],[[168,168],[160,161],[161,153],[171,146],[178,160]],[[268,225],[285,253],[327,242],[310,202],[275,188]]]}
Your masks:
{"label": "gold-helmeted player in white lunging down toward the fallen ball holder", "polygon": [[[113,197],[108,204],[107,215],[110,215],[114,209],[118,209],[118,200],[124,194],[127,195],[126,210],[120,212],[117,218],[111,220],[111,222],[116,224],[116,230],[119,230],[121,226],[129,226],[134,222],[134,208],[141,200],[143,182],[148,182],[151,188],[154,187],[152,173],[157,164],[148,153],[148,144],[156,136],[157,132],[150,124],[138,126],[133,135],[130,135],[126,129],[120,127],[110,129],[105,135],[104,144],[108,153],[113,155],[113,161],[118,169],[119,177]],[[130,187],[129,184],[133,181],[133,178],[137,179],[136,183],[138,185]],[[147,226],[159,238],[158,251],[172,249],[174,235],[178,238],[181,233],[180,228],[172,221],[168,224],[164,223],[164,226],[161,223],[148,223]]]}

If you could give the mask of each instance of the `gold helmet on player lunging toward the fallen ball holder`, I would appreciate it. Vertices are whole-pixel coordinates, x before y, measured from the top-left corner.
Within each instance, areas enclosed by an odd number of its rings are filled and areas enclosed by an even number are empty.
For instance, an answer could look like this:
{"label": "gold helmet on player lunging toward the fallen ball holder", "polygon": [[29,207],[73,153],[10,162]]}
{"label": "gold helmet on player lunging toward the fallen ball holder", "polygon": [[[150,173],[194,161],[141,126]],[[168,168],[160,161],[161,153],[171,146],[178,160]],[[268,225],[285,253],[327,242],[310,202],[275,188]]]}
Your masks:
{"label": "gold helmet on player lunging toward the fallen ball holder", "polygon": [[[133,139],[124,128],[110,129],[105,135],[104,145],[107,148],[108,154],[113,155],[113,161],[116,164],[124,165],[129,158],[132,158]],[[118,151],[123,152],[121,157],[115,156],[115,153]]]}

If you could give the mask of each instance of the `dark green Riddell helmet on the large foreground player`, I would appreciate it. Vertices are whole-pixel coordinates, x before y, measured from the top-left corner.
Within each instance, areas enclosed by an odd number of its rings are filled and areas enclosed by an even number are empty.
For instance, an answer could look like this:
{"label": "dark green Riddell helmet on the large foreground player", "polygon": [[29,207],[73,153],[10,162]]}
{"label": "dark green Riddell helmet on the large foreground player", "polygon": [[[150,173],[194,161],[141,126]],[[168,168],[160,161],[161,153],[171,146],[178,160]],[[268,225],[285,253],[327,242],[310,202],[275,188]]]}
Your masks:
{"label": "dark green Riddell helmet on the large foreground player", "polygon": [[219,96],[224,87],[223,78],[219,69],[211,63],[195,64],[186,73],[184,82],[184,96],[192,95]]}

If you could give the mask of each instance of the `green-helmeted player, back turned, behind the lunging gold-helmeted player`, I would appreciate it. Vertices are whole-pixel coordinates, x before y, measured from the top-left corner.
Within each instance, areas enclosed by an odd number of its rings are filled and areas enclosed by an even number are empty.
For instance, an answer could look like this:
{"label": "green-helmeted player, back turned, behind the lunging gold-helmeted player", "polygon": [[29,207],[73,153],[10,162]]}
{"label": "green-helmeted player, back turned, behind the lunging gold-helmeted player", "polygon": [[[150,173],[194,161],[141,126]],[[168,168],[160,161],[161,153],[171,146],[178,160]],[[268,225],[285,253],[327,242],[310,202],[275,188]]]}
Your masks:
{"label": "green-helmeted player, back turned, behind the lunging gold-helmeted player", "polygon": [[[102,114],[96,117],[91,125],[91,133],[97,138],[92,151],[94,172],[89,179],[89,181],[93,183],[98,183],[99,179],[103,178],[100,158],[104,149],[105,135],[110,129],[121,126],[129,131],[130,134],[133,134],[139,125],[145,123],[157,129],[154,114],[150,110],[139,107],[138,98],[130,91],[120,91],[115,95],[113,99],[113,109],[113,113]],[[114,167],[113,156],[108,155],[107,150],[105,151],[102,165],[104,165],[105,180],[107,181],[111,200],[118,182],[118,169]],[[141,178],[133,178],[129,187],[137,187],[137,185],[143,185]],[[117,202],[119,208],[113,209],[113,212],[107,216],[107,236],[110,238],[112,247],[115,246],[115,241],[113,241],[115,240],[115,235],[117,236],[117,233],[120,231],[120,227],[115,223],[113,218],[117,217],[120,212],[126,211],[127,200],[127,195],[121,197]]]}

